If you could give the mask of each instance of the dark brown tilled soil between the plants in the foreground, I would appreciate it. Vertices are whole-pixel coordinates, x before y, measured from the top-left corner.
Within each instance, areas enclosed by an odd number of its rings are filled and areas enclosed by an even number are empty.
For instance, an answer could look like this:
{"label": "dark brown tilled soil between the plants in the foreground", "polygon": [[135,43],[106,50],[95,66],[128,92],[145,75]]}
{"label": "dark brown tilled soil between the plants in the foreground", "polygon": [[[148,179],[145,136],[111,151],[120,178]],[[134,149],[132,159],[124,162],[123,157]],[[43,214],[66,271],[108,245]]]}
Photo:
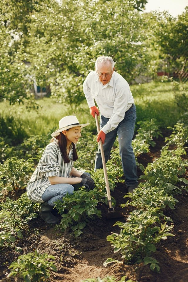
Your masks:
{"label": "dark brown tilled soil between the plants in the foreground", "polygon": [[[163,142],[162,138],[157,140],[156,147],[151,148],[150,153],[141,155],[138,161],[146,166],[148,162],[159,157]],[[140,174],[142,172],[138,170],[138,176]],[[184,177],[187,176],[184,175]],[[123,198],[126,192],[127,189],[122,183],[117,183],[112,192],[112,196],[117,201],[115,209],[121,211],[124,216],[120,221],[126,221],[133,210],[132,207],[119,207],[127,201]],[[106,276],[114,276],[118,281],[126,275],[126,281],[132,279],[138,282],[188,282],[188,193],[184,192],[176,196],[176,199],[178,202],[173,210],[170,208],[164,210],[164,214],[174,221],[172,233],[175,236],[160,241],[157,244],[157,251],[152,254],[152,257],[159,262],[160,273],[152,272],[150,267],[143,263],[135,265],[111,263],[107,267],[103,266],[107,258],[121,261],[121,254],[118,252],[114,254],[114,248],[106,240],[111,232],[119,233],[119,227],[113,226],[118,219],[106,220],[108,207],[104,204],[98,205],[102,218],[90,221],[83,230],[83,234],[77,239],[69,230],[64,234],[58,234],[54,226],[45,224],[38,217],[29,222],[23,239],[19,239],[16,245],[23,248],[22,254],[38,249],[41,253],[55,257],[58,272],[52,272],[50,278],[45,281],[80,282],[86,278]],[[1,251],[0,282],[22,282],[21,278],[6,277],[10,271],[8,266],[18,256],[19,254],[11,249]]]}

